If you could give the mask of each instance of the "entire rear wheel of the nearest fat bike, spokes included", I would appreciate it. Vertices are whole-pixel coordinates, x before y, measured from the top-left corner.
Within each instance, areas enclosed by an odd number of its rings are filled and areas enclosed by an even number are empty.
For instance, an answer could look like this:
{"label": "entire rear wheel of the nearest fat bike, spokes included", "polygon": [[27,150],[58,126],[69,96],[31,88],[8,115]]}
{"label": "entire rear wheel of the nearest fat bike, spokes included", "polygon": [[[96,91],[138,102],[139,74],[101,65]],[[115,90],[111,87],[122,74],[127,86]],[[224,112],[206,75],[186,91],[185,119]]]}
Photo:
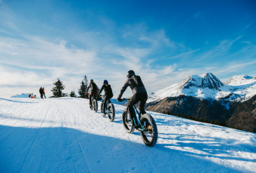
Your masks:
{"label": "entire rear wheel of the nearest fat bike, spokes included", "polygon": [[153,147],[157,143],[158,132],[157,124],[154,121],[154,118],[150,114],[143,114],[141,117],[141,125],[143,130],[141,131],[141,136],[143,142],[149,146]]}

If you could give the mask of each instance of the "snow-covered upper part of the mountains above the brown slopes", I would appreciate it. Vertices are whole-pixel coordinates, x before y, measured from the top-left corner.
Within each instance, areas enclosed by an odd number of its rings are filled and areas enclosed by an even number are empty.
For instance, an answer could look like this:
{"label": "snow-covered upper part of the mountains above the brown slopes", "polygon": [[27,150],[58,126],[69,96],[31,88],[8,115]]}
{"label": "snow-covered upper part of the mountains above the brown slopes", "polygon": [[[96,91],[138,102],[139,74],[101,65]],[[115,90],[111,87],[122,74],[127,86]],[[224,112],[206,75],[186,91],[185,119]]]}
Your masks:
{"label": "snow-covered upper part of the mountains above the brown slopes", "polygon": [[246,101],[256,93],[256,77],[235,76],[227,80],[227,84],[218,80],[212,73],[192,75],[181,83],[176,83],[151,93],[148,102],[166,97],[194,96],[201,99],[228,99],[230,101]]}

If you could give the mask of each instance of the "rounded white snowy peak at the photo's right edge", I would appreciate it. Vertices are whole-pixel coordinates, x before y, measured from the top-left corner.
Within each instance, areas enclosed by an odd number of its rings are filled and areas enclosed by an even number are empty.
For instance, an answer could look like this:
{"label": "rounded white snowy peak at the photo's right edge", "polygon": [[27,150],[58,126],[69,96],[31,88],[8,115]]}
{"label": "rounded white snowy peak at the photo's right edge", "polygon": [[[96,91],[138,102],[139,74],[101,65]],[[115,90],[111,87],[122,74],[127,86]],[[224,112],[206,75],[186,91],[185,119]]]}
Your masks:
{"label": "rounded white snowy peak at the photo's right edge", "polygon": [[239,86],[239,85],[254,83],[255,81],[256,81],[256,77],[251,77],[248,75],[235,75],[231,77],[229,80],[227,80],[225,84],[231,85],[231,86]]}

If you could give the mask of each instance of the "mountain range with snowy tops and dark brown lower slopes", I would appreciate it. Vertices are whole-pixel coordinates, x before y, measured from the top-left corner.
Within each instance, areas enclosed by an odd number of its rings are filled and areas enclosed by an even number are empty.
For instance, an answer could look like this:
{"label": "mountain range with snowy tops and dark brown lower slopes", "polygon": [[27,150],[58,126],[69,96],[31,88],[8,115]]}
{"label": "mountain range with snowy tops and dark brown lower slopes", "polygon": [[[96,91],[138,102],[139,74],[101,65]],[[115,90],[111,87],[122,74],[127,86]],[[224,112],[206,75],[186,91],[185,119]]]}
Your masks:
{"label": "mountain range with snowy tops and dark brown lower slopes", "polygon": [[[205,73],[192,75],[180,83],[149,94],[146,106],[150,111],[189,116],[206,122],[224,122],[232,127],[236,120],[233,118],[234,111],[236,110],[236,117],[241,115],[236,108],[242,104],[246,105],[246,101],[255,94],[256,77],[236,75],[222,83],[214,74]],[[241,108],[240,111],[242,111]],[[251,112],[248,116],[253,117],[254,113]],[[236,126],[236,129],[256,131],[256,126],[251,123],[251,125],[239,124],[241,126]]]}

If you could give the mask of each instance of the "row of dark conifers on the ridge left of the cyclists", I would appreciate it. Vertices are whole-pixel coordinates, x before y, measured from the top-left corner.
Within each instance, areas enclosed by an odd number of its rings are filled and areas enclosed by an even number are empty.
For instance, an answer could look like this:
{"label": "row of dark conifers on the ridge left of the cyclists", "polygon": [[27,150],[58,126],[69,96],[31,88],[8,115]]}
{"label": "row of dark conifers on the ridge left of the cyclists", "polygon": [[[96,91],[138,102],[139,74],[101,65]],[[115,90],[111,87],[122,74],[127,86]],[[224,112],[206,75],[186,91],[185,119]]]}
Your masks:
{"label": "row of dark conifers on the ridge left of the cyclists", "polygon": [[[53,82],[53,85],[54,85],[53,89],[51,90],[53,93],[53,96],[51,96],[51,98],[66,97],[66,96],[77,97],[75,95],[75,90],[72,91],[69,95],[67,93],[62,93],[62,90],[65,89],[65,85],[61,80],[59,80],[59,78],[56,82]],[[87,86],[88,86],[87,75],[84,75],[84,80],[81,81],[81,86],[78,90],[78,94],[79,94],[78,97],[88,99],[88,96],[86,93]]]}

